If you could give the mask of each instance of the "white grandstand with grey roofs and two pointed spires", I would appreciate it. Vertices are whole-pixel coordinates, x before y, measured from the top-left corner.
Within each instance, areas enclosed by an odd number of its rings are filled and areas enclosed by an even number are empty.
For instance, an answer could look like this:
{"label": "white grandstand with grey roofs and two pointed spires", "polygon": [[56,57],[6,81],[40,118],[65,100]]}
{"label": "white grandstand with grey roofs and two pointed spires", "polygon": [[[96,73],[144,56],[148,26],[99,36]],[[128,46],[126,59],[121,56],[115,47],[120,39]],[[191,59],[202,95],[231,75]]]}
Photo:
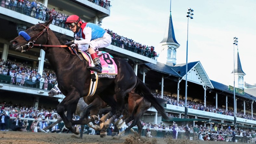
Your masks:
{"label": "white grandstand with grey roofs and two pointed spires", "polygon": [[[64,96],[48,97],[47,92],[57,82],[54,72],[51,72],[51,66],[47,61],[47,57],[45,57],[44,51],[34,48],[21,54],[10,48],[9,41],[16,37],[19,31],[26,30],[38,23],[38,21],[44,22],[47,20],[47,16],[48,18],[55,19],[55,23],[50,25],[50,29],[56,32],[56,35],[66,34],[67,39],[72,40],[73,33],[65,27],[65,18],[75,14],[83,18],[85,22],[92,22],[100,26],[103,19],[110,16],[111,5],[97,5],[88,0],[38,0],[39,9],[42,7],[42,10],[47,9],[50,13],[56,15],[42,14],[42,18],[36,18],[31,15],[32,11],[30,9],[25,6],[22,7],[23,4],[20,7],[13,7],[2,3],[3,0],[0,1],[0,30],[2,32],[0,36],[0,56],[4,60],[1,68],[7,65],[6,62],[9,61],[8,71],[12,66],[11,63],[13,63],[19,64],[17,67],[23,65],[23,68],[26,67],[26,70],[34,72],[36,75],[47,75],[49,78],[52,78],[51,83],[48,82],[46,89],[40,89],[39,81],[28,79],[24,85],[19,85],[16,81],[12,82],[11,76],[0,73],[0,102],[11,101],[13,105],[26,105],[27,107],[30,105],[33,109],[42,107],[45,109],[55,109]],[[29,14],[28,11],[30,11]],[[43,19],[44,16],[45,19]],[[254,103],[256,101],[255,92],[247,93],[245,91],[236,93],[236,105],[234,106],[233,91],[230,90],[230,87],[211,80],[204,71],[200,61],[188,63],[188,100],[191,103],[191,107],[187,110],[185,109],[181,103],[184,102],[185,97],[186,64],[176,64],[176,52],[179,48],[179,43],[175,39],[173,30],[173,22],[170,15],[169,27],[161,42],[161,48],[164,50],[161,54],[163,55],[160,54],[160,56],[167,57],[167,59],[161,61],[161,63],[157,61],[157,57],[152,50],[150,52],[145,51],[145,45],[141,44],[138,46],[139,43],[134,44],[133,42],[127,42],[127,44],[122,38],[118,39],[118,36],[114,36],[111,30],[107,30],[113,38],[111,45],[100,49],[114,57],[125,59],[134,68],[135,74],[145,82],[153,93],[160,93],[158,96],[162,98],[165,96],[167,101],[169,99],[170,101],[171,99],[173,100],[173,102],[165,105],[166,112],[170,115],[175,115],[170,121],[166,121],[158,116],[154,108],[150,108],[141,120],[146,123],[162,123],[165,125],[170,125],[173,121],[180,124],[188,121],[193,125],[200,122],[205,126],[215,123],[221,124],[221,126],[234,126],[238,124],[255,128],[256,116],[253,113],[253,107],[256,106]],[[238,54],[237,57],[239,60]],[[241,77],[239,72],[239,69],[241,69],[240,60],[237,61],[236,66],[237,71],[235,71],[235,74],[238,81],[238,76]],[[14,67],[11,71],[16,70],[17,67]],[[22,73],[22,70],[17,69],[16,71]],[[238,88],[243,90],[244,85],[242,84],[242,87]],[[192,105],[200,105],[200,108],[192,108]],[[236,118],[232,115],[234,107],[237,107],[237,112],[239,112]],[[207,108],[212,111],[207,111]],[[185,119],[186,111],[189,118]]]}

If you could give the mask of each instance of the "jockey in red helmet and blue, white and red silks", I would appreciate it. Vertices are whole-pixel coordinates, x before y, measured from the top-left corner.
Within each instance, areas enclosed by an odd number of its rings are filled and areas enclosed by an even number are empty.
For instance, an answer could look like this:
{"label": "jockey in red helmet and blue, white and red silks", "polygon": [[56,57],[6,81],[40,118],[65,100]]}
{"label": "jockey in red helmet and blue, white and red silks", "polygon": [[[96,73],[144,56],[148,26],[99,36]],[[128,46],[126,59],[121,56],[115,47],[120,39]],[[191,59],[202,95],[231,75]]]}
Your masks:
{"label": "jockey in red helmet and blue, white and red silks", "polygon": [[[98,73],[102,72],[99,57],[95,51],[98,48],[109,46],[111,43],[111,36],[101,27],[94,23],[82,22],[77,15],[71,15],[67,18],[65,24],[70,30],[74,32],[73,41],[65,43],[65,45],[78,45],[78,50],[88,51],[91,54],[95,66],[89,66],[88,69],[94,70]],[[88,49],[89,47],[89,49]]]}

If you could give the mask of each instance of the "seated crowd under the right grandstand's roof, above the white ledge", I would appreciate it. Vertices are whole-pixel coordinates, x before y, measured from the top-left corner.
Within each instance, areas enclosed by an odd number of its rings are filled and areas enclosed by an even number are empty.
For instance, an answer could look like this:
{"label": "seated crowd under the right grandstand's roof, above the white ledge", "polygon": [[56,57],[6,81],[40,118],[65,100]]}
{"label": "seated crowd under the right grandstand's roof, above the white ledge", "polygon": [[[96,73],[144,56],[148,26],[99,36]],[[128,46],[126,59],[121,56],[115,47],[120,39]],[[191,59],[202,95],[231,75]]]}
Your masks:
{"label": "seated crowd under the right grandstand's roof, above the white ledge", "polygon": [[[155,97],[161,98],[161,94],[153,92],[152,94]],[[165,99],[167,102],[167,104],[171,104],[171,105],[176,105],[176,106],[181,106],[181,107],[185,107],[185,100],[180,99],[179,102],[177,101],[177,97],[173,97],[173,96],[168,96],[168,95],[164,95],[163,99]],[[191,108],[191,109],[196,109],[196,110],[201,110],[201,111],[206,111],[206,112],[211,112],[211,113],[217,113],[217,114],[224,114],[224,115],[230,115],[230,116],[234,116],[234,110],[229,109],[226,111],[225,108],[223,107],[218,107],[216,109],[215,106],[210,105],[210,104],[206,104],[206,106],[204,106],[204,103],[201,102],[194,102],[191,100],[187,100],[187,107]],[[174,115],[170,114],[171,117],[178,117],[178,115]],[[240,118],[245,118],[245,119],[250,119],[250,120],[256,120],[256,115],[253,114],[253,116],[251,116],[251,114],[249,113],[244,113],[242,111],[237,111],[237,117]]]}

